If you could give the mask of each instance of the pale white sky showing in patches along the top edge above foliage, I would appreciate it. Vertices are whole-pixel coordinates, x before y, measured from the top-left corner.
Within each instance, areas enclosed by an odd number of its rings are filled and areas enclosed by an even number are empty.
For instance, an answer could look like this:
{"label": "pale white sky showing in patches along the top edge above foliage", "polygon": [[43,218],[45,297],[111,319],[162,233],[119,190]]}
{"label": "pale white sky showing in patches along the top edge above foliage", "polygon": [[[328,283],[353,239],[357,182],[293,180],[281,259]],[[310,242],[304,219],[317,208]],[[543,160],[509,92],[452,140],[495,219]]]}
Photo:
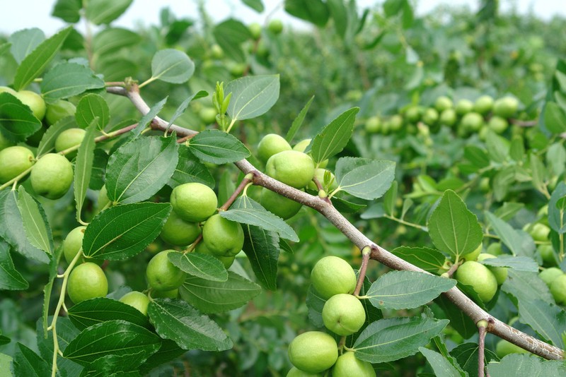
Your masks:
{"label": "pale white sky showing in patches along the top edge above foliage", "polygon": [[[415,0],[412,0],[415,2]],[[25,28],[37,27],[47,35],[51,35],[64,27],[64,22],[58,18],[48,16],[52,12],[55,0],[0,0],[0,32],[11,33]],[[360,7],[375,6],[381,0],[357,0]],[[564,0],[500,0],[502,10],[511,7],[517,8],[520,13],[534,11],[541,18],[551,18],[555,14],[566,17]],[[424,14],[434,9],[438,4],[451,6],[469,6],[477,9],[479,0],[416,0],[417,13]],[[9,5],[8,5],[9,4]],[[143,25],[158,24],[159,10],[165,6],[171,8],[178,18],[196,18],[195,0],[134,0],[132,6],[118,18],[113,25],[125,28],[134,28]],[[283,0],[263,0],[265,11],[258,14],[241,0],[208,0],[207,11],[214,20],[224,20],[230,16],[243,20],[245,23],[263,23],[266,16],[280,18],[286,24],[296,28],[304,26],[299,20],[293,18],[283,10]],[[32,11],[33,10],[33,11]]]}

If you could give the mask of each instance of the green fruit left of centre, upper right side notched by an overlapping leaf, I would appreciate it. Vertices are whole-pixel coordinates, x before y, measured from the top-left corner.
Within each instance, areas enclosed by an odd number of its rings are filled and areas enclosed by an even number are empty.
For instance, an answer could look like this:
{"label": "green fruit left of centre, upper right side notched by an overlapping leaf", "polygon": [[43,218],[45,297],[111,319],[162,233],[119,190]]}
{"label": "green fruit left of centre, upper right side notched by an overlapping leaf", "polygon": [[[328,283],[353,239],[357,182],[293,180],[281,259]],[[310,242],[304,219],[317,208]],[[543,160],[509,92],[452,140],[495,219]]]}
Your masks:
{"label": "green fruit left of centre, upper right side notched by an overlapping leaf", "polygon": [[147,263],[147,282],[151,289],[156,291],[176,289],[185,281],[186,274],[169,261],[168,253],[176,253],[176,251],[161,251]]}

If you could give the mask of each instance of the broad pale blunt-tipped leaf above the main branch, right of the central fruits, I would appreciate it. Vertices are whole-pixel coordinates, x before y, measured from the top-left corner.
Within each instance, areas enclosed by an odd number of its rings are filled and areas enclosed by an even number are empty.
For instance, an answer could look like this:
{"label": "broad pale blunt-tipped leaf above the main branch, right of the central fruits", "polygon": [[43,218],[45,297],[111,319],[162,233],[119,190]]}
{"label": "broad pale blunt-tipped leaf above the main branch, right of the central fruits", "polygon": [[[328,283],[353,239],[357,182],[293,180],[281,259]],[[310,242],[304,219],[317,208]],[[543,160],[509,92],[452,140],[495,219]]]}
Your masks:
{"label": "broad pale blunt-tipped leaf above the main branch, right of the central fruits", "polygon": [[336,162],[338,190],[366,200],[380,198],[395,178],[395,162],[341,157]]}

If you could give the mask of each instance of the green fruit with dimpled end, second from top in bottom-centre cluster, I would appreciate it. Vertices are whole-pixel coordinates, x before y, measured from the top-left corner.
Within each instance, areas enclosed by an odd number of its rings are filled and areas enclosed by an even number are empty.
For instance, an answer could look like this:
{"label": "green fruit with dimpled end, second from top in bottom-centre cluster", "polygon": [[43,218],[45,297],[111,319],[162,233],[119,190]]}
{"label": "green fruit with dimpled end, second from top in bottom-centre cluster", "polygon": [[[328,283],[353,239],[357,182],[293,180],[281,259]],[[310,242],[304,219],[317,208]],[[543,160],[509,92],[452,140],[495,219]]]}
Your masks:
{"label": "green fruit with dimpled end, second from top in bottom-centre cluster", "polygon": [[325,302],[323,323],[337,335],[357,333],[366,321],[366,311],[357,297],[352,294],[335,294]]}

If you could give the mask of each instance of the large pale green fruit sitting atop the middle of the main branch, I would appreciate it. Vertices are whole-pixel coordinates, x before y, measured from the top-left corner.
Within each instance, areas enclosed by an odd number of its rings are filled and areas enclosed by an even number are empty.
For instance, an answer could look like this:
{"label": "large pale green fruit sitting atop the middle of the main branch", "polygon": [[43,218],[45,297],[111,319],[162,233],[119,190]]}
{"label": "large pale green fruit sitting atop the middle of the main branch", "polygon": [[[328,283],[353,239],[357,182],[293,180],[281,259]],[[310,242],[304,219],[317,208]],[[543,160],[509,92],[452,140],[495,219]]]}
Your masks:
{"label": "large pale green fruit sitting atop the middle of the main branch", "polygon": [[303,152],[284,150],[267,160],[265,173],[294,188],[303,188],[313,179],[314,162]]}

